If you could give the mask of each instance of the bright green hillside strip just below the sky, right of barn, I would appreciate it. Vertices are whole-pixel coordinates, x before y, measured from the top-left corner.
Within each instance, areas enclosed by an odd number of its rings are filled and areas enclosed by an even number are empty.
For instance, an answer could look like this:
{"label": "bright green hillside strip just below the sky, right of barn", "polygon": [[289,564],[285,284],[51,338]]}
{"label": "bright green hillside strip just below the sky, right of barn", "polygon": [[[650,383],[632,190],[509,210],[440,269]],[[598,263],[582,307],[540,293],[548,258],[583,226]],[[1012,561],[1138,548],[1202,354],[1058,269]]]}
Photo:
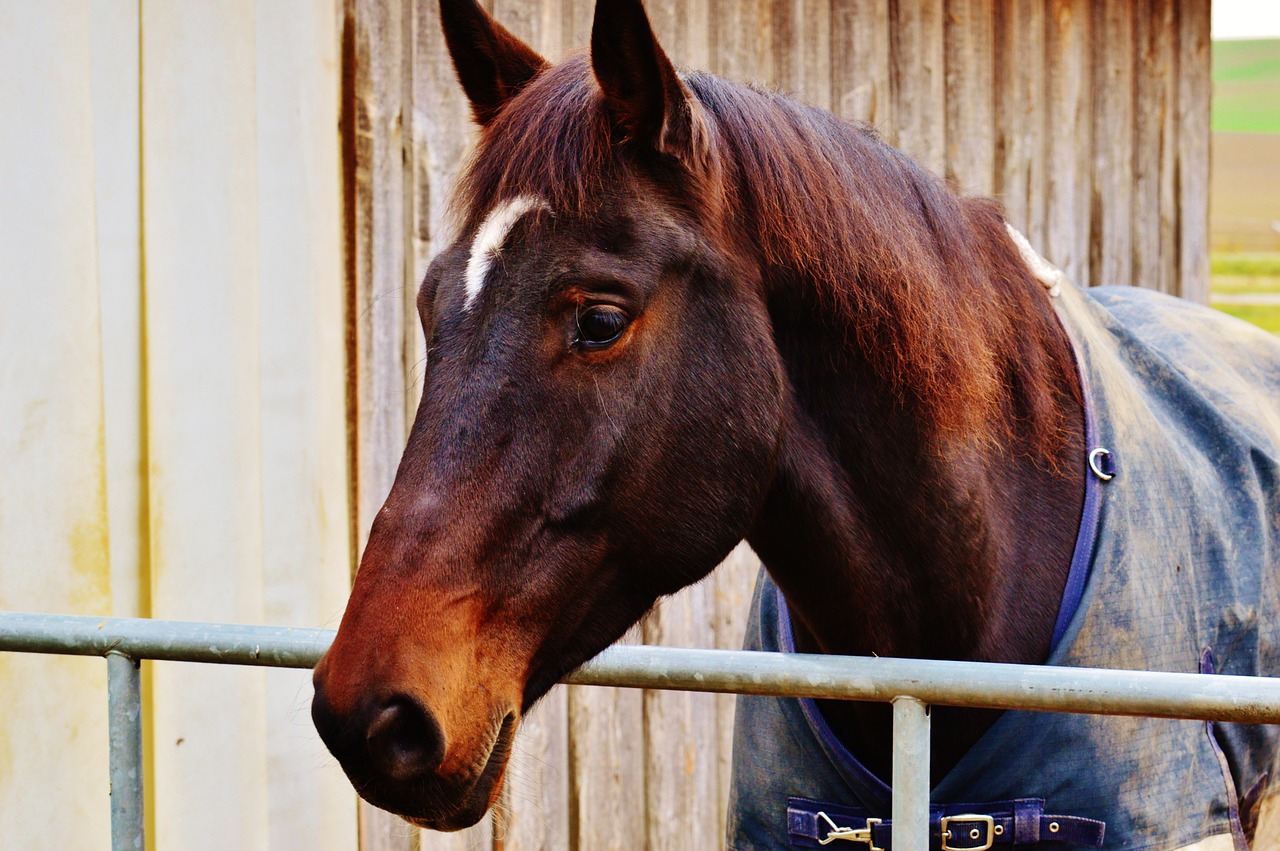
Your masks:
{"label": "bright green hillside strip just below the sky, right of barn", "polygon": [[1213,129],[1280,133],[1280,38],[1213,42]]}

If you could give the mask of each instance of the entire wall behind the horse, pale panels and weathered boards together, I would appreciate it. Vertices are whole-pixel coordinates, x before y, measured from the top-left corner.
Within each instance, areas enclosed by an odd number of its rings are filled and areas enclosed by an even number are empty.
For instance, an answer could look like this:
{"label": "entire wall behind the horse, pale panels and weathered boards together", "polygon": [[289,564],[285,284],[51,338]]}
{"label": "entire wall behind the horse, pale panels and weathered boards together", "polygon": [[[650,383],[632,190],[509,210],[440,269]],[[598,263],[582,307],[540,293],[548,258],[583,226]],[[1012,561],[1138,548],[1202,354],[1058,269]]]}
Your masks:
{"label": "entire wall behind the horse, pale panels and weathered boards together", "polygon": [[[589,0],[489,0],[548,56]],[[872,120],[1082,283],[1207,292],[1208,0],[652,0],[677,63]],[[470,139],[433,0],[0,0],[0,607],[335,626]],[[631,640],[737,646],[756,564]],[[557,688],[500,811],[358,807],[305,672],[145,665],[180,848],[704,848],[732,699]],[[97,847],[105,669],[0,656],[0,847]]]}

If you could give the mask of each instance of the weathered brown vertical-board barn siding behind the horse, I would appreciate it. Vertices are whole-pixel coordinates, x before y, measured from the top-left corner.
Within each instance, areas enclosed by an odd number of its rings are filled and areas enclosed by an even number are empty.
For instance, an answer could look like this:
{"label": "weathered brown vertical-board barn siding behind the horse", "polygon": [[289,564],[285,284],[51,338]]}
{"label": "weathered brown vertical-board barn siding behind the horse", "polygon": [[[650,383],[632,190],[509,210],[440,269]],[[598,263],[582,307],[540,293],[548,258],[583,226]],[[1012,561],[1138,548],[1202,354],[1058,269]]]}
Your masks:
{"label": "weathered brown vertical-board barn siding behind the horse", "polygon": [[[589,0],[489,0],[550,59]],[[792,92],[884,137],[1011,220],[1082,284],[1207,297],[1208,1],[655,0],[677,64]],[[435,4],[344,0],[342,128],[351,477],[362,545],[417,402],[413,297],[449,239],[472,129]],[[758,567],[736,552],[628,640],[735,648]],[[365,848],[717,847],[732,697],[557,688],[525,720],[499,811],[458,834],[362,807]]]}

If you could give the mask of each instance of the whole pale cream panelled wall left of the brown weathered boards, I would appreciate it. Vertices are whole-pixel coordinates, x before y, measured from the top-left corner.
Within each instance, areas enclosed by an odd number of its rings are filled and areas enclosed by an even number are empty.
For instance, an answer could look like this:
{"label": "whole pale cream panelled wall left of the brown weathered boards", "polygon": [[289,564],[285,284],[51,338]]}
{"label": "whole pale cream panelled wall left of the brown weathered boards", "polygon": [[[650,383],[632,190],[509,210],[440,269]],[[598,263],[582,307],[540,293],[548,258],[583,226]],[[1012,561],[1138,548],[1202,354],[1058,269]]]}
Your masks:
{"label": "whole pale cream panelled wall left of the brown weathered boards", "polygon": [[[0,609],[337,624],[338,19],[0,0]],[[307,672],[148,671],[152,847],[356,846]],[[108,845],[105,680],[0,654],[0,848]]]}

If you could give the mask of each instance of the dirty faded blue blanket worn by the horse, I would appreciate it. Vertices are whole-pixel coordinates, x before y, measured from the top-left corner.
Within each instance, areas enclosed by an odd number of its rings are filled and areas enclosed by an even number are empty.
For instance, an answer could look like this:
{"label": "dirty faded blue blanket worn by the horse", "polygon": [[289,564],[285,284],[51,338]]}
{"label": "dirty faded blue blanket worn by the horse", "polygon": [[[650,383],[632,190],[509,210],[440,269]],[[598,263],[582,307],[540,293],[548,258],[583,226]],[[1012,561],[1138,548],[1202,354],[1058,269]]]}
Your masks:
{"label": "dirty faded blue blanket worn by the horse", "polygon": [[[1280,674],[1280,340],[1151,290],[1055,290],[1093,472],[1047,664]],[[746,646],[795,650],[763,573]],[[931,847],[942,816],[977,813],[992,818],[952,820],[947,848],[1243,851],[1242,815],[1247,828],[1275,791],[1277,740],[1265,726],[1006,712],[932,790]],[[890,795],[814,701],[739,697],[730,847],[818,847],[870,818],[887,848],[876,819]]]}

